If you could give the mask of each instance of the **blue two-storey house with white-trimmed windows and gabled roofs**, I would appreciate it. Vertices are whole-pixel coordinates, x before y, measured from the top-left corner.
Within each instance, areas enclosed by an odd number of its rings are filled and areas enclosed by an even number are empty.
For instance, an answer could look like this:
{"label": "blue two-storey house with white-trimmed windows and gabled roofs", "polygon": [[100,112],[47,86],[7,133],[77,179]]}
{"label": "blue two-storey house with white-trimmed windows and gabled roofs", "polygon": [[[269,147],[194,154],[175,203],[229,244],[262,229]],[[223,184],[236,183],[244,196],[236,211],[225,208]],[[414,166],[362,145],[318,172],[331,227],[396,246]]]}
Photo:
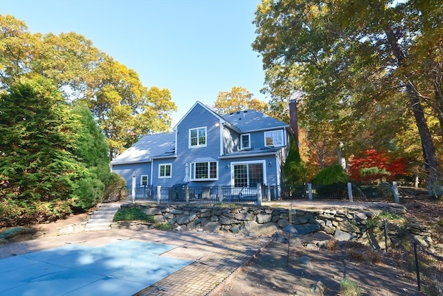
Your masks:
{"label": "blue two-storey house with white-trimmed windows and gabled roofs", "polygon": [[[287,123],[262,112],[246,110],[220,116],[197,102],[173,132],[141,138],[111,162],[131,189],[171,188],[187,184],[205,198],[201,188],[278,186],[289,148]],[[200,190],[199,190],[200,188]]]}

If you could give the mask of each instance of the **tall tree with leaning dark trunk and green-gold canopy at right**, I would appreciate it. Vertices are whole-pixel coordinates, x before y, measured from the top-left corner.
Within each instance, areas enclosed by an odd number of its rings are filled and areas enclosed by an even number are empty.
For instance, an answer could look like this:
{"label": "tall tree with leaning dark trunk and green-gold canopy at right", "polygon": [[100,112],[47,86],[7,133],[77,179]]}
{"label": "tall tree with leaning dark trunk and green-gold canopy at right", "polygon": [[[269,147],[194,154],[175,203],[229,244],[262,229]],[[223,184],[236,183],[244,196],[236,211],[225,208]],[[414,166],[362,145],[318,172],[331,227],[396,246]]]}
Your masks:
{"label": "tall tree with leaning dark trunk and green-gold canopy at right", "polygon": [[[439,1],[264,0],[255,12],[258,36],[253,49],[262,55],[266,71],[276,65],[286,71],[295,69],[292,77],[299,80],[300,91],[307,97],[309,116],[334,119],[334,110],[350,110],[336,121],[340,130],[369,123],[367,111],[382,112],[389,103],[399,112],[410,112],[433,195],[441,168],[420,91],[422,85],[432,83],[423,83],[430,80],[417,65],[430,56],[441,58],[441,53],[433,50],[433,55],[420,55],[414,49],[418,43],[424,51],[440,48],[428,44],[442,43],[431,33],[442,32],[440,12]],[[432,16],[430,24],[425,15]],[[342,136],[338,134],[337,139]]]}

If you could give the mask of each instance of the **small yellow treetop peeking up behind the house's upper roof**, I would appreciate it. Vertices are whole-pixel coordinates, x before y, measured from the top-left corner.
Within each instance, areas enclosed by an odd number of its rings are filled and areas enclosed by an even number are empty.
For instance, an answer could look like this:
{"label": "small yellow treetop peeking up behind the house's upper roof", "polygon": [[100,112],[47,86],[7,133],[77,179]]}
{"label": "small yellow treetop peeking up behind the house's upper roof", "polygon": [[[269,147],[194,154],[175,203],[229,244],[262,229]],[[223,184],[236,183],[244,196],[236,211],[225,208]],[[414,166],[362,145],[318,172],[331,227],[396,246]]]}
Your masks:
{"label": "small yellow treetop peeking up behind the house's upper roof", "polygon": [[233,87],[230,92],[219,92],[215,101],[215,111],[219,114],[249,109],[266,113],[268,106],[265,102],[253,98],[253,94],[244,87]]}

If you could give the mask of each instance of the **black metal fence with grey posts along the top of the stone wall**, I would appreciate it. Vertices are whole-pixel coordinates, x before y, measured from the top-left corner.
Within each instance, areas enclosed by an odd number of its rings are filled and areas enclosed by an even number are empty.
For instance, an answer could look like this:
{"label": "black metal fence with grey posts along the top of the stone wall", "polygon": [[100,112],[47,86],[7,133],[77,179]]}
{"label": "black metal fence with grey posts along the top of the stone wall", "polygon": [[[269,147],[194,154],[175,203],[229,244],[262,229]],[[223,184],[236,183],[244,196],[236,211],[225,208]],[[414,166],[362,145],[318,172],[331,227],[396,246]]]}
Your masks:
{"label": "black metal fence with grey posts along the top of the stone wall", "polygon": [[[132,193],[130,193],[132,196]],[[270,185],[254,187],[192,186],[176,184],[172,187],[143,186],[135,189],[135,200],[152,202],[257,202],[272,200],[341,200],[394,202],[391,184],[336,184],[298,186]]]}

